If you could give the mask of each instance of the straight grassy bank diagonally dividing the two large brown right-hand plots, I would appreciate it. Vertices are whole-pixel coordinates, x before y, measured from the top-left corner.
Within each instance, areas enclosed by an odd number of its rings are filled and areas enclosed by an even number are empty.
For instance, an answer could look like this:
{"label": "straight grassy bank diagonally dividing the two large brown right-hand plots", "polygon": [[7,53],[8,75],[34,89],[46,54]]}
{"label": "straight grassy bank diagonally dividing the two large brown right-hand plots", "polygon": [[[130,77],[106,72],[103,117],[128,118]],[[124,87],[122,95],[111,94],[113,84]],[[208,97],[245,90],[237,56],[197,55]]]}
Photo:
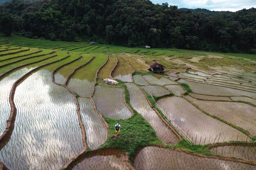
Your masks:
{"label": "straight grassy bank diagonally dividing the two large brown right-hand plots", "polygon": [[[194,104],[193,102],[191,102],[189,99],[187,99],[186,97],[182,97],[184,98],[186,101],[188,101],[190,104],[192,104],[193,106],[195,106],[198,110],[200,110],[202,113],[214,118],[214,119],[217,119],[219,121],[222,121],[223,123],[231,126],[232,128],[235,128],[236,130],[239,130],[240,132],[242,132],[243,134],[245,134],[246,136],[248,136],[249,138],[252,138],[253,136],[247,131],[247,130],[244,130],[243,128],[239,127],[239,126],[236,126],[234,124],[231,124],[229,121],[226,121],[224,119],[221,119],[220,117],[218,116],[215,116],[215,115],[212,115],[210,113],[207,113],[206,111],[202,110],[200,107],[198,107],[198,105]],[[226,101],[224,101],[226,102]],[[230,102],[230,101],[229,101]]]}

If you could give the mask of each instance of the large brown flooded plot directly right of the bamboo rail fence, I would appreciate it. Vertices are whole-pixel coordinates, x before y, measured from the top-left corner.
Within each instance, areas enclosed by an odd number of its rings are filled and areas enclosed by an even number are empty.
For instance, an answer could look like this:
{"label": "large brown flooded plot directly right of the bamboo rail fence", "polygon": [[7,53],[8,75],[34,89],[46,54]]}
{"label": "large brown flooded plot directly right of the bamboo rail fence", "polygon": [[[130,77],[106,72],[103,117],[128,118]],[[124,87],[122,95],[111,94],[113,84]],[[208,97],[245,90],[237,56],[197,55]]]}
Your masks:
{"label": "large brown flooded plot directly right of the bamboo rail fence", "polygon": [[165,97],[159,99],[157,104],[195,144],[247,139],[242,132],[207,116],[182,97]]}

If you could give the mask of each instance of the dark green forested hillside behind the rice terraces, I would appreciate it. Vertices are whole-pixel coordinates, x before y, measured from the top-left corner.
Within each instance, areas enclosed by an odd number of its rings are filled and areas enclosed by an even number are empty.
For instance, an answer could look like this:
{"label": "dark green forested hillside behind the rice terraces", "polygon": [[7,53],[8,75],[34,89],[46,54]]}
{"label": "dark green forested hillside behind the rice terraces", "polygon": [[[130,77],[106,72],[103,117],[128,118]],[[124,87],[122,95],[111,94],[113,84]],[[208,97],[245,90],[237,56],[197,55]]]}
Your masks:
{"label": "dark green forested hillside behind the rice terraces", "polygon": [[0,31],[29,38],[121,46],[255,53],[256,9],[191,12],[150,0],[13,0],[0,7]]}

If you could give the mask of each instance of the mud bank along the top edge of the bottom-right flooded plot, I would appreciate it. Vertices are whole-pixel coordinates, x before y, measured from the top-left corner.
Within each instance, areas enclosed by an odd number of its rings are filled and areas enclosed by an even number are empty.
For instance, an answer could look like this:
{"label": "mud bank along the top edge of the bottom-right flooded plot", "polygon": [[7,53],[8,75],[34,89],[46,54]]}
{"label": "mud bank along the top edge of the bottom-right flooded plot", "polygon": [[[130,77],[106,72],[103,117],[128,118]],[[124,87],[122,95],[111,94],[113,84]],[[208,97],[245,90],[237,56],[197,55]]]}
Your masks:
{"label": "mud bank along the top edge of the bottom-right flooded plot", "polygon": [[[153,144],[151,146],[155,146],[155,147],[158,147],[158,148],[166,148],[167,149],[166,146],[163,146],[163,145],[160,145],[160,144]],[[135,153],[136,155],[134,157],[137,157],[139,151],[142,150],[143,148],[146,148],[146,147],[139,148],[139,150]],[[212,158],[212,159],[218,159],[218,160],[222,160],[222,161],[232,161],[232,162],[245,163],[245,164],[256,166],[256,161],[247,161],[245,159],[234,158],[234,157],[202,155],[202,154],[198,154],[198,153],[195,153],[195,152],[189,152],[187,150],[182,150],[182,149],[178,149],[178,148],[174,148],[174,147],[170,147],[168,149],[170,149],[170,150],[177,150],[178,152],[184,152],[184,153],[186,153],[188,155],[193,155],[195,157]]]}

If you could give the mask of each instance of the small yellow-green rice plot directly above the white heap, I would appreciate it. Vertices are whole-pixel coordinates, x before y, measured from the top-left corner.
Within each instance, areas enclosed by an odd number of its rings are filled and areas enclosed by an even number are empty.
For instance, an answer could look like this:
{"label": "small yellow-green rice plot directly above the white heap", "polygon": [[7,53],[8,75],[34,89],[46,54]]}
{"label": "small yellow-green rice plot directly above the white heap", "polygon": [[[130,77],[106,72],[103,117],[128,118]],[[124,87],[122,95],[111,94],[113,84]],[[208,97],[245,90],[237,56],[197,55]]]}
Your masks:
{"label": "small yellow-green rice plot directly above the white heap", "polygon": [[117,63],[116,57],[113,55],[109,55],[108,62],[103,68],[101,68],[101,70],[99,71],[98,77],[102,79],[112,78],[111,72],[116,66],[116,63]]}

